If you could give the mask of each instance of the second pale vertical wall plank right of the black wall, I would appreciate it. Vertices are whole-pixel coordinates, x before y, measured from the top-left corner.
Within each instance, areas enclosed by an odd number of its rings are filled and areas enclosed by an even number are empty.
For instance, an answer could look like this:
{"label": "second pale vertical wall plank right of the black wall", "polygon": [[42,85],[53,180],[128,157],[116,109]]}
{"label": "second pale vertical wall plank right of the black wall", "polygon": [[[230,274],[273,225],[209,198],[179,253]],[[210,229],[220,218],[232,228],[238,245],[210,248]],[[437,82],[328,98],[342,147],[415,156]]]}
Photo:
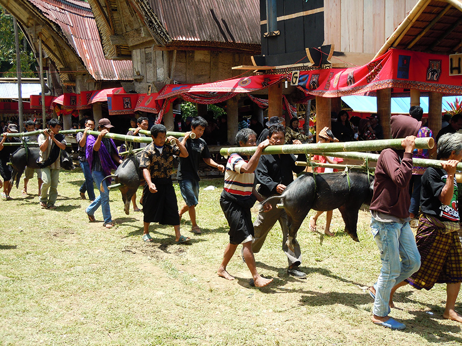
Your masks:
{"label": "second pale vertical wall plank right of the black wall", "polygon": [[344,52],[362,52],[364,1],[343,0],[341,10],[340,50]]}

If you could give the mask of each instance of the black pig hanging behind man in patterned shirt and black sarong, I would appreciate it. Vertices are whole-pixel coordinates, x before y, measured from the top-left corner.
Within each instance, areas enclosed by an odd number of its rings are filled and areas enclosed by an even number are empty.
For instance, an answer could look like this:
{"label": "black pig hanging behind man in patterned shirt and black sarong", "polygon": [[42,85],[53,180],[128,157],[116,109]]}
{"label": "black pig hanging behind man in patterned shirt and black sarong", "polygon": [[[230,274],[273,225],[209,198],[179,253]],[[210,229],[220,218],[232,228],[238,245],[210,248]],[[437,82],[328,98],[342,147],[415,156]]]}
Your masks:
{"label": "black pig hanging behind man in patterned shirt and black sarong", "polygon": [[[143,173],[140,170],[140,157],[141,152],[137,155],[130,155],[126,157],[117,170],[115,170],[114,174],[104,178],[114,178],[115,184],[122,184],[122,186],[119,187],[119,190],[122,193],[124,212],[127,215],[130,214],[131,197],[137,192],[141,181],[144,180]],[[103,186],[100,188],[103,189]]]}

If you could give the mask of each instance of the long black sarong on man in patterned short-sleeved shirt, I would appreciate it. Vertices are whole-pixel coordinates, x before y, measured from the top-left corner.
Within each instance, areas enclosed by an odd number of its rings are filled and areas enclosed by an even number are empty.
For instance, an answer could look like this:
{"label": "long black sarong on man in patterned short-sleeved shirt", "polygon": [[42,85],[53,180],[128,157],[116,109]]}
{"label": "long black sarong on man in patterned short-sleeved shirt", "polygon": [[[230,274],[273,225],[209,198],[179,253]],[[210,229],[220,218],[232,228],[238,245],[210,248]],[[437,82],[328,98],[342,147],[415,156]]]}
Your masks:
{"label": "long black sarong on man in patterned short-sleeved shirt", "polygon": [[152,179],[157,192],[152,193],[146,184],[143,190],[144,222],[159,222],[161,225],[180,225],[178,203],[171,178]]}

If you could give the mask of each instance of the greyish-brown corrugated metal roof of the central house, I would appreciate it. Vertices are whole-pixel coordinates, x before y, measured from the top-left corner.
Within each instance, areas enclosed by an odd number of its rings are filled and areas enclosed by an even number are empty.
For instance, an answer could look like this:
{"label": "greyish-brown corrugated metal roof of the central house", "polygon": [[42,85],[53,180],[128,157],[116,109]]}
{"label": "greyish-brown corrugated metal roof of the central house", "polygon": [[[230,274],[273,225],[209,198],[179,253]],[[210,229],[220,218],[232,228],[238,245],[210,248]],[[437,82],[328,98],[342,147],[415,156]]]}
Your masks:
{"label": "greyish-brown corrugated metal roof of the central house", "polygon": [[174,41],[260,46],[259,0],[149,0],[149,4]]}

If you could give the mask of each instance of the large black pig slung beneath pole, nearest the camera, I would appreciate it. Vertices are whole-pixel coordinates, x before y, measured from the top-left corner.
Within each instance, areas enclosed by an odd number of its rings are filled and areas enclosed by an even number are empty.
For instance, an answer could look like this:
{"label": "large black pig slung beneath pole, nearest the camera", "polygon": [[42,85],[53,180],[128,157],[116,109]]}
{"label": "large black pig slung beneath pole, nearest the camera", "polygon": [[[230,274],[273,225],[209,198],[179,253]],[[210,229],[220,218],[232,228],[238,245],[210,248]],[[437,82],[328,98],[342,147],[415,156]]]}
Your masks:
{"label": "large black pig slung beneath pole, nearest the camera", "polygon": [[371,203],[373,186],[374,176],[359,171],[307,173],[289,184],[280,196],[269,197],[262,203],[277,200],[282,203],[287,213],[287,246],[290,249],[293,249],[292,242],[311,209],[338,209],[345,222],[345,232],[359,241],[356,229],[358,211],[363,203]]}

